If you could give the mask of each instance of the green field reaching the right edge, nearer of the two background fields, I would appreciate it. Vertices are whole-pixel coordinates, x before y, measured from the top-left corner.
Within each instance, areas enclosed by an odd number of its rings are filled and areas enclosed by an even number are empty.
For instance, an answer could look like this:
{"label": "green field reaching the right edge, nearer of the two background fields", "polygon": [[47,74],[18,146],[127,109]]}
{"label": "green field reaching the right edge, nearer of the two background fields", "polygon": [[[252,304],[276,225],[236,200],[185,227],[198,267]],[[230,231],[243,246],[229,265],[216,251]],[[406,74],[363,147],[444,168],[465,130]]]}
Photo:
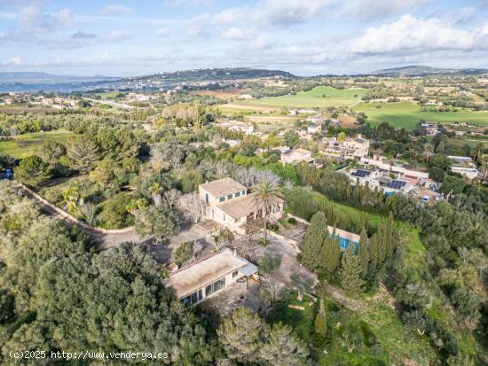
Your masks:
{"label": "green field reaching the right edge, nearer of the two background fields", "polygon": [[[378,106],[381,105],[381,108]],[[356,112],[366,113],[367,121],[372,126],[381,122],[389,122],[395,127],[406,129],[416,128],[420,120],[447,122],[473,122],[480,126],[488,126],[488,112],[472,112],[461,109],[459,112],[421,112],[420,105],[408,102],[398,103],[360,103],[352,108]]]}

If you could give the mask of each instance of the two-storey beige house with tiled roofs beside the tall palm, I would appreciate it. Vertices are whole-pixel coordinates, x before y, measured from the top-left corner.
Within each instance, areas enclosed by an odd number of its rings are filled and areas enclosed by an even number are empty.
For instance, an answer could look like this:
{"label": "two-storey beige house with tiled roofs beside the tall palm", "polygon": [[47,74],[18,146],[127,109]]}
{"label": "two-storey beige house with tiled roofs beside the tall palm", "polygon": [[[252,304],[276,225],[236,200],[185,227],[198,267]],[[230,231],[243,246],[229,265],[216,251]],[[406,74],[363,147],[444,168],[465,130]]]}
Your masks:
{"label": "two-storey beige house with tiled roofs beside the tall palm", "polygon": [[[246,223],[264,217],[261,208],[256,205],[256,193],[248,193],[248,188],[232,178],[218,179],[199,186],[199,196],[204,203],[204,217],[216,222],[218,227],[226,227],[243,235]],[[269,207],[270,218],[277,221],[283,216],[282,199],[275,206]],[[202,222],[199,227],[205,228]],[[216,230],[216,225],[212,226]]]}

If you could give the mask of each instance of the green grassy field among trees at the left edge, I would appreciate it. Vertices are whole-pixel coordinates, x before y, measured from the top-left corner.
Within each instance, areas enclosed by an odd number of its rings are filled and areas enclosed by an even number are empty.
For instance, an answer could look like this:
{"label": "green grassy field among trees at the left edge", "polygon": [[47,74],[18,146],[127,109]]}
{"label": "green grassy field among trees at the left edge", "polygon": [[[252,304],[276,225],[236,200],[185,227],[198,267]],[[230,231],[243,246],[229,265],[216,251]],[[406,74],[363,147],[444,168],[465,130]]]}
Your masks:
{"label": "green grassy field among trees at the left edge", "polygon": [[75,134],[63,129],[24,134],[16,136],[14,140],[0,142],[0,153],[10,155],[16,159],[22,159],[34,154],[44,141],[51,140],[64,143],[71,136],[75,136]]}

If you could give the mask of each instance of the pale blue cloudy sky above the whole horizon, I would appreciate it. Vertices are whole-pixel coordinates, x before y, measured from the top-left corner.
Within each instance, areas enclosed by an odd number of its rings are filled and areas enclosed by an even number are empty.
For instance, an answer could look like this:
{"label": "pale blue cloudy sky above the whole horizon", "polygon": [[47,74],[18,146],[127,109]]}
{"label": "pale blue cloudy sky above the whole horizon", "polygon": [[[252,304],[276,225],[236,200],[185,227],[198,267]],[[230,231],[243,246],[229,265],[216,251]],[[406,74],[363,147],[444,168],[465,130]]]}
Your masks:
{"label": "pale blue cloudy sky above the whole horizon", "polygon": [[488,0],[0,0],[0,72],[488,68]]}

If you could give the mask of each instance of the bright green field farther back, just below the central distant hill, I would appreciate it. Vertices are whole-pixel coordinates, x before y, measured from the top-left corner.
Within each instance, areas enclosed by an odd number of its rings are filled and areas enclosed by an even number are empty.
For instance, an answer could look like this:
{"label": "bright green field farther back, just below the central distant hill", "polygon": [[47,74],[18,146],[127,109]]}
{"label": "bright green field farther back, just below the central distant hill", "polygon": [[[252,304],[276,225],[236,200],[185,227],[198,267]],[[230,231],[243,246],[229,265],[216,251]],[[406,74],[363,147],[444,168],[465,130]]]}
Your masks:
{"label": "bright green field farther back, just below the central distant hill", "polygon": [[[350,106],[358,102],[366,94],[366,91],[366,89],[339,90],[329,86],[322,86],[308,91],[300,91],[295,95],[251,99],[242,102],[242,104],[306,108],[315,106]],[[323,97],[324,95],[326,97]]]}

